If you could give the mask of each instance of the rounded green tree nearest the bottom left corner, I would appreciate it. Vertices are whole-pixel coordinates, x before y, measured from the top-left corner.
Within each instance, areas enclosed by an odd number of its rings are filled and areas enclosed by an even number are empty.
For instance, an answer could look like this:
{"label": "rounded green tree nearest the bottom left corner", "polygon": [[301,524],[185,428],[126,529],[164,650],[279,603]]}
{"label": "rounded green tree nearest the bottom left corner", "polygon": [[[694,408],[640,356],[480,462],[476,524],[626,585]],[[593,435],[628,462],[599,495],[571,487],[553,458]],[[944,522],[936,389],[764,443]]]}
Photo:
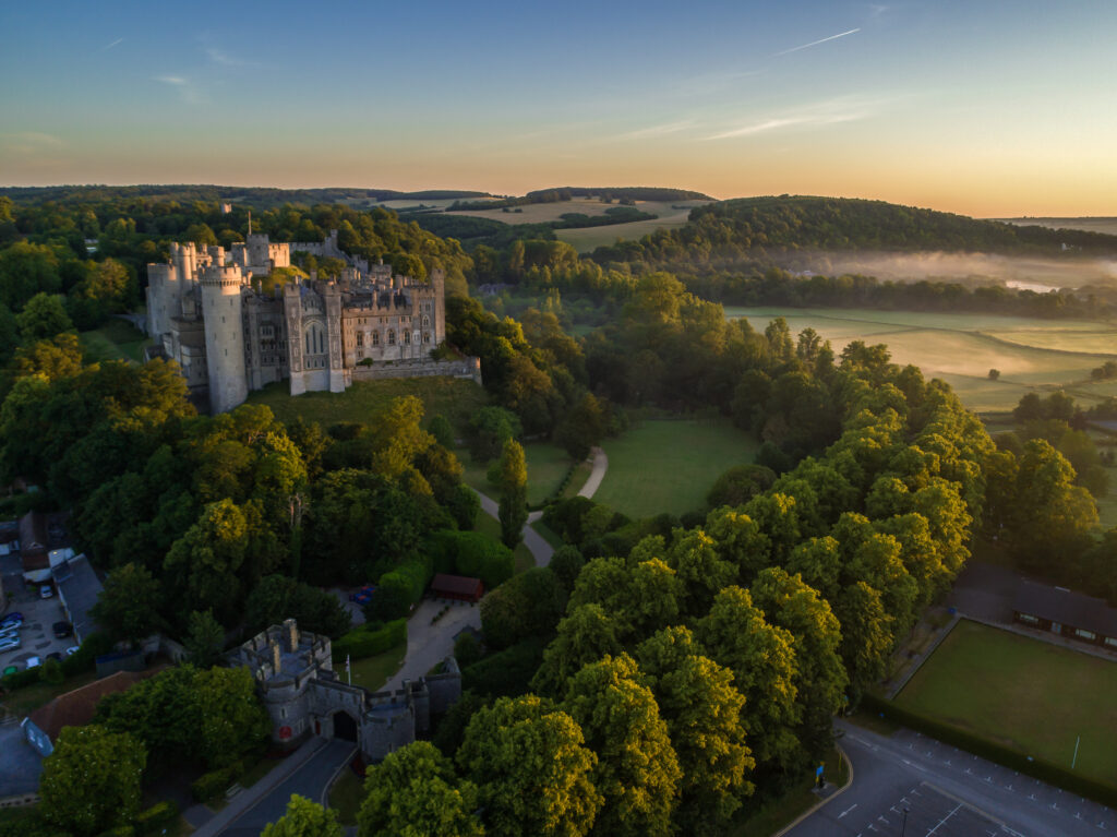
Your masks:
{"label": "rounded green tree nearest the bottom left corner", "polygon": [[47,819],[77,835],[127,825],[140,811],[147,763],[143,744],[104,726],[65,726],[42,763],[39,796]]}

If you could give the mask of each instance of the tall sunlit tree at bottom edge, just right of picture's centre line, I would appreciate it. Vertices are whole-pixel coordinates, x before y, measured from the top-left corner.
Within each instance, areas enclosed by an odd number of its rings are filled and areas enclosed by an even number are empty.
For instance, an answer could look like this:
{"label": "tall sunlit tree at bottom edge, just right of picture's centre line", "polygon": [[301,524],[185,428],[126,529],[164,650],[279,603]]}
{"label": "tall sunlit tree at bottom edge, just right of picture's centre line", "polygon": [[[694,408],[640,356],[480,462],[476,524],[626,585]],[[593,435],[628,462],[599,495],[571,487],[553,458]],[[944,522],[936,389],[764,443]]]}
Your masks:
{"label": "tall sunlit tree at bottom edge, just right of picture's centre line", "polygon": [[667,835],[682,779],[667,724],[641,673],[627,654],[604,657],[575,674],[563,702],[598,755],[591,773],[604,797],[594,830],[609,835]]}

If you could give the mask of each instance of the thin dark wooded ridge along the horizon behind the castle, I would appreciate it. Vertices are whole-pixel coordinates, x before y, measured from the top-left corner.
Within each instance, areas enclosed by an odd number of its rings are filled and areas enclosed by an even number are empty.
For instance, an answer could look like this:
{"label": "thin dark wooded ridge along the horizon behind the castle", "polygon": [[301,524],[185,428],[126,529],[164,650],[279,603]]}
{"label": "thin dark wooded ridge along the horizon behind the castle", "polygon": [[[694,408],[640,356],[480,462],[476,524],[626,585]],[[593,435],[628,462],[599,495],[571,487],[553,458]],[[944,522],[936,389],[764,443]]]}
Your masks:
{"label": "thin dark wooded ridge along the horizon behind the castle", "polygon": [[379,202],[385,200],[455,200],[485,198],[488,192],[469,192],[454,189],[428,189],[418,192],[400,192],[393,189],[269,189],[264,187],[237,186],[46,186],[46,187],[0,187],[18,205],[35,206],[47,201],[60,205],[96,203],[117,199],[156,199],[178,201],[231,201],[259,209],[270,209],[284,203],[351,203]]}

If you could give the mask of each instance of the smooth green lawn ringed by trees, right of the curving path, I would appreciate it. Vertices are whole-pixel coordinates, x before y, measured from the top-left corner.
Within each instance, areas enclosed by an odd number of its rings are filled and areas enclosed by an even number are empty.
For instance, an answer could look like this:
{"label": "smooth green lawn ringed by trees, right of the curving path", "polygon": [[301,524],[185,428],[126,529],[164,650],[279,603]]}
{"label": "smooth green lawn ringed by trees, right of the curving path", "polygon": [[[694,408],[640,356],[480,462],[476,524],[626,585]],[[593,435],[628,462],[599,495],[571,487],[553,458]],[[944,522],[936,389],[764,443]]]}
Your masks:
{"label": "smooth green lawn ringed by trees, right of the curving path", "polygon": [[602,445],[609,470],[593,500],[630,517],[706,505],[714,481],[747,464],[756,440],[728,420],[645,421]]}

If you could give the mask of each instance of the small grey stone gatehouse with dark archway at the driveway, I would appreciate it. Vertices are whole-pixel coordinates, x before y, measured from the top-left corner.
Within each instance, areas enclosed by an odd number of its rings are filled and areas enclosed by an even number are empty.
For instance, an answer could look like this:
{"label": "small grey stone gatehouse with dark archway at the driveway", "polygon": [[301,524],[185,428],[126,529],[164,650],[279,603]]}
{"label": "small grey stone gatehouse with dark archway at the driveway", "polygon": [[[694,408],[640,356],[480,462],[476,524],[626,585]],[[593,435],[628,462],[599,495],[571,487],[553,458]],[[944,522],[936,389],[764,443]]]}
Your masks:
{"label": "small grey stone gatehouse with dark archway at the driveway", "polygon": [[416,740],[461,696],[457,660],[441,674],[404,681],[394,692],[369,692],[342,683],[331,664],[330,638],[299,631],[294,619],[273,625],[229,655],[248,666],[271,716],[271,742],[292,748],[309,738],[342,739],[360,745],[366,763]]}

